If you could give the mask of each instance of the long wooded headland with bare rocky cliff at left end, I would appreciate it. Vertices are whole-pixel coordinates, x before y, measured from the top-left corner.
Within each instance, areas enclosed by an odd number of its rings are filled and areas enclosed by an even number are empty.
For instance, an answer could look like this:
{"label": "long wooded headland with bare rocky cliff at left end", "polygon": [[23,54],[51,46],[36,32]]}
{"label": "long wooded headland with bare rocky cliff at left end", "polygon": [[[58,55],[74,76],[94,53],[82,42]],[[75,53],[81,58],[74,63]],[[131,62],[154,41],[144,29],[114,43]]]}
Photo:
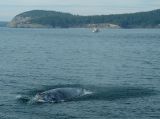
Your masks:
{"label": "long wooded headland with bare rocky cliff at left end", "polygon": [[80,16],[32,10],[16,15],[11,28],[160,28],[160,9],[130,14]]}

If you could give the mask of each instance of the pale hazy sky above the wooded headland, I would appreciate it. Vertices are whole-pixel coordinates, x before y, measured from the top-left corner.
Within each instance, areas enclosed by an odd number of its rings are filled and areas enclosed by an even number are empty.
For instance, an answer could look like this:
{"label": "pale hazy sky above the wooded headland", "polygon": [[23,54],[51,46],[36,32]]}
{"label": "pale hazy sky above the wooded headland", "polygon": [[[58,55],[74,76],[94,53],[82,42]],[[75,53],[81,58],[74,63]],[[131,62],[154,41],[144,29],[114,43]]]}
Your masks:
{"label": "pale hazy sky above the wooded headland", "polygon": [[1,0],[0,21],[34,9],[70,12],[79,15],[116,14],[160,8],[160,0]]}

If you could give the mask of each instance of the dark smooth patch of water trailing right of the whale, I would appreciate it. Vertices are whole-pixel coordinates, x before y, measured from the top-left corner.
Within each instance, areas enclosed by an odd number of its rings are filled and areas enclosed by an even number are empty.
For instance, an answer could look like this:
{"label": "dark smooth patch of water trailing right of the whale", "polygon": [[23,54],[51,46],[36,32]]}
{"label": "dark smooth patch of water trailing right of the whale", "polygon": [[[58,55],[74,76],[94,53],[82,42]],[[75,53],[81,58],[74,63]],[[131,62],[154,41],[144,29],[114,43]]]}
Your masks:
{"label": "dark smooth patch of water trailing right of the whale", "polygon": [[156,94],[153,89],[142,87],[94,87],[92,95],[84,96],[78,100],[108,100],[139,98]]}

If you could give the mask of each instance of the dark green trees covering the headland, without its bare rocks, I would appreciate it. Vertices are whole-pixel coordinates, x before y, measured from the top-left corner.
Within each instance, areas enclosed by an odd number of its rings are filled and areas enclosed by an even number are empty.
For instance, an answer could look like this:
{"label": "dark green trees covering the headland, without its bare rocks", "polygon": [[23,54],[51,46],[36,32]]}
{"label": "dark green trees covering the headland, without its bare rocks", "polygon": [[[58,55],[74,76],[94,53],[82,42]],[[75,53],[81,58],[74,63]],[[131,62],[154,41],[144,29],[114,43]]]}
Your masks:
{"label": "dark green trees covering the headland, without its bare rocks", "polygon": [[33,10],[18,16],[30,17],[31,23],[52,27],[76,27],[86,24],[110,23],[123,28],[157,27],[160,24],[160,10],[132,14],[79,16],[55,11]]}

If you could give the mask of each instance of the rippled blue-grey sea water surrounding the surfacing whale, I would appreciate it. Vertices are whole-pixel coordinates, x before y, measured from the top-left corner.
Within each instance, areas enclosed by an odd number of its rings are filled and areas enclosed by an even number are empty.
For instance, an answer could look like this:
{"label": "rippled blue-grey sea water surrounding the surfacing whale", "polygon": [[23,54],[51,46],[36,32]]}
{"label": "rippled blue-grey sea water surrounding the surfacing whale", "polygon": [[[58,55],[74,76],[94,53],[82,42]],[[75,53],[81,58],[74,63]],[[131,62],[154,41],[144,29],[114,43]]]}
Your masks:
{"label": "rippled blue-grey sea water surrounding the surfacing whale", "polygon": [[[28,104],[54,88],[93,95]],[[0,119],[159,119],[160,29],[0,28]]]}

